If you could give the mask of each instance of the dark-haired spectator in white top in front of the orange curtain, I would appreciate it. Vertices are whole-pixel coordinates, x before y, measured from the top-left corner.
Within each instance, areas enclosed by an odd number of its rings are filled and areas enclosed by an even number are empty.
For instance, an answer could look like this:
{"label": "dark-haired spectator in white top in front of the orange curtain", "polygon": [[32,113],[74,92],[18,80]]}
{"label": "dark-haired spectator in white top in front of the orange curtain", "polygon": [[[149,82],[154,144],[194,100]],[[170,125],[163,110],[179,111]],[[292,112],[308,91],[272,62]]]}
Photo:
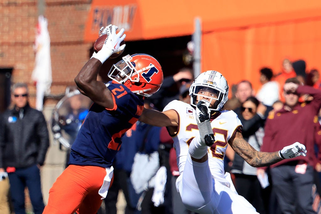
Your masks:
{"label": "dark-haired spectator in white top in front of the orange curtain", "polygon": [[279,84],[275,81],[271,81],[273,77],[271,68],[262,68],[260,73],[260,82],[262,86],[257,92],[256,98],[264,105],[272,106],[276,100],[279,100]]}

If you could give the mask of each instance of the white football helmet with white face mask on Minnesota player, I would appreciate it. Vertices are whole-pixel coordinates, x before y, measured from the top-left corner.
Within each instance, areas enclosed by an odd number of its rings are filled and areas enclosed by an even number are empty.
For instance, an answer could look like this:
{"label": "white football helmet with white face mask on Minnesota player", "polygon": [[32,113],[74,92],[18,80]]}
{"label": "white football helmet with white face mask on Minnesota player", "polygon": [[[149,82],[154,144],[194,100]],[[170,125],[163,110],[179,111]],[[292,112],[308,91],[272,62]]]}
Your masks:
{"label": "white football helmet with white face mask on Minnesota player", "polygon": [[226,101],[229,99],[229,85],[227,84],[225,77],[217,71],[206,71],[204,73],[199,74],[194,79],[194,82],[189,88],[189,95],[191,96],[192,106],[196,107],[196,101],[199,100],[199,95],[197,95],[197,93],[204,88],[209,88],[212,91],[214,91],[217,97],[213,98],[204,96],[210,98],[210,102],[212,101],[212,99],[216,100],[214,106],[210,107],[209,109],[213,111],[220,111],[226,103]]}

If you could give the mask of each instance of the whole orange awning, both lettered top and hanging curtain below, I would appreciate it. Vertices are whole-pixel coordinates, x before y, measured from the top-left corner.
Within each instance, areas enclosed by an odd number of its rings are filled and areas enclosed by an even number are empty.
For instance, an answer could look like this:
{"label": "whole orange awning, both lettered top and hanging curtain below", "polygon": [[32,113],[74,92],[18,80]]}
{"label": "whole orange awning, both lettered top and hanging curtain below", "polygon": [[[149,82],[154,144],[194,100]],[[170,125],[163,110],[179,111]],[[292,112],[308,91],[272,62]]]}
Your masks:
{"label": "whole orange awning, both lettered top and hanging curtain below", "polygon": [[100,26],[126,30],[126,40],[191,35],[202,26],[201,71],[217,70],[229,85],[247,79],[258,90],[259,69],[281,71],[284,58],[321,69],[321,1],[310,0],[93,0],[85,41]]}

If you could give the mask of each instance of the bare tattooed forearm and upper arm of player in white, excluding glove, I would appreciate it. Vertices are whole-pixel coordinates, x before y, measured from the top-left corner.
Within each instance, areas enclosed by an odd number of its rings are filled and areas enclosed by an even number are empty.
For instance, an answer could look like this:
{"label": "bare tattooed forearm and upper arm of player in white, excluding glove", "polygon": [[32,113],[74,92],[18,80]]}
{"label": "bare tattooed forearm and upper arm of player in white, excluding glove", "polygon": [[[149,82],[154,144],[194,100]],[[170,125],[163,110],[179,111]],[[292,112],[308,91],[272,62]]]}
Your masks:
{"label": "bare tattooed forearm and upper arm of player in white, excluding glove", "polygon": [[252,167],[265,167],[282,160],[279,152],[261,152],[255,150],[240,132],[237,132],[233,139],[230,139],[233,150],[241,156]]}

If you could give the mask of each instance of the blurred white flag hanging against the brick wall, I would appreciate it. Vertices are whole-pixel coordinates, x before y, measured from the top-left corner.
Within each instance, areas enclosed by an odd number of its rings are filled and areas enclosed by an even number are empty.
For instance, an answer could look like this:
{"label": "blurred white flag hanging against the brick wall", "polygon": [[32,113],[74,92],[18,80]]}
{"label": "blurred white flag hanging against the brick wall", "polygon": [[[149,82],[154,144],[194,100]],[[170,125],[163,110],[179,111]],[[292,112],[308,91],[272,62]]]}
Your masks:
{"label": "blurred white flag hanging against the brick wall", "polygon": [[36,83],[37,87],[36,108],[41,111],[44,95],[50,93],[52,82],[48,20],[43,15],[38,17],[34,49],[36,51],[36,61],[31,79]]}

